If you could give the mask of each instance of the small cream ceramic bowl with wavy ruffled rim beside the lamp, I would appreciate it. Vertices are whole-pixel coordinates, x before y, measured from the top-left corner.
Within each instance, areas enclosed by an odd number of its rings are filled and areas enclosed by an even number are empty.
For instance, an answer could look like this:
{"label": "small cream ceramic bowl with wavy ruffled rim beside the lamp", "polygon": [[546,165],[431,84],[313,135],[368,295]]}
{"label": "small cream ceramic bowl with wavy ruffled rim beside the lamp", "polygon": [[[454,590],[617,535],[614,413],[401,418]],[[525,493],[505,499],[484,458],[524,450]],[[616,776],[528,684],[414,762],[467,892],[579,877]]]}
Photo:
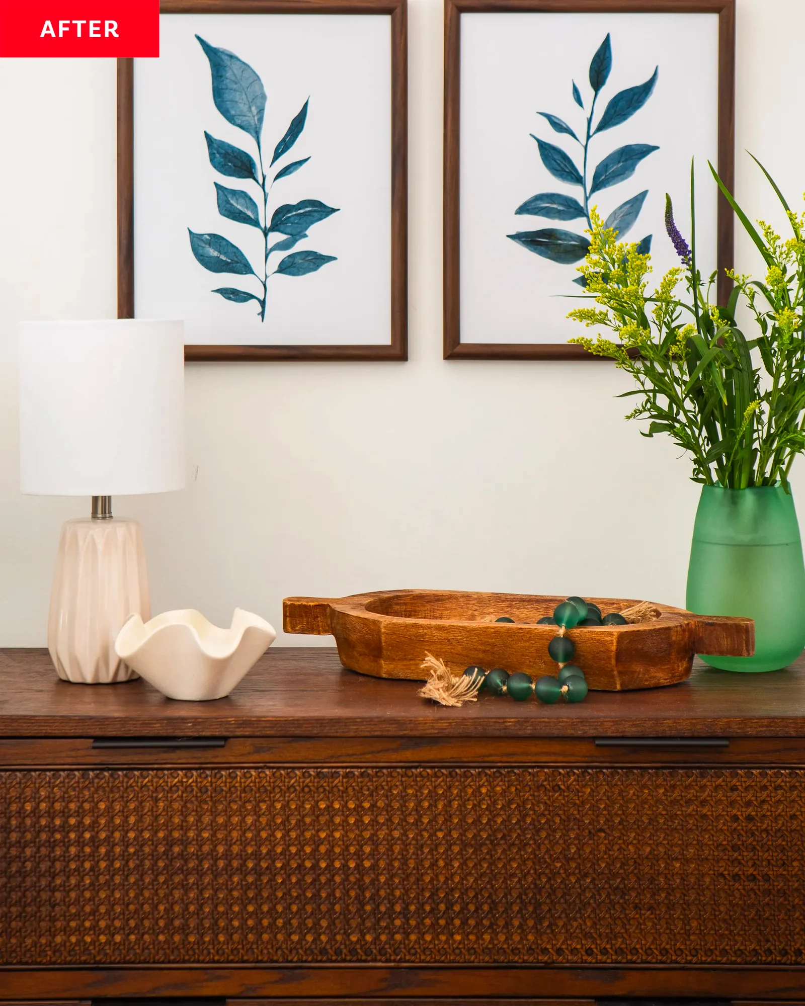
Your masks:
{"label": "small cream ceramic bowl with wavy ruffled rim beside the lamp", "polygon": [[185,609],[146,623],[130,616],[115,652],[163,695],[198,702],[228,695],[276,638],[265,619],[239,608],[228,629]]}

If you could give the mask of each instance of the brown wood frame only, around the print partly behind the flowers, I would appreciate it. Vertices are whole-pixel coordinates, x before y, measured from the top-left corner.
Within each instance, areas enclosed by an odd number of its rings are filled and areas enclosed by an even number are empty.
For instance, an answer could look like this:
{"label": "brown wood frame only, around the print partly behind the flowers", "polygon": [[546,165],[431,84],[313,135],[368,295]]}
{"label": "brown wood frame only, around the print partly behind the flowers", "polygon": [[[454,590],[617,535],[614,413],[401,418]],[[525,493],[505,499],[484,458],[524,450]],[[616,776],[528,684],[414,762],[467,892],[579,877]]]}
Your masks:
{"label": "brown wood frame only, around the print partly behind the flowers", "polygon": [[[461,15],[463,13],[711,13],[718,15],[718,173],[735,181],[735,0],[445,0],[444,358],[474,360],[602,360],[566,343],[470,343],[461,341],[459,263],[459,154]],[[718,300],[727,303],[733,266],[735,218],[719,192],[717,203]]]}

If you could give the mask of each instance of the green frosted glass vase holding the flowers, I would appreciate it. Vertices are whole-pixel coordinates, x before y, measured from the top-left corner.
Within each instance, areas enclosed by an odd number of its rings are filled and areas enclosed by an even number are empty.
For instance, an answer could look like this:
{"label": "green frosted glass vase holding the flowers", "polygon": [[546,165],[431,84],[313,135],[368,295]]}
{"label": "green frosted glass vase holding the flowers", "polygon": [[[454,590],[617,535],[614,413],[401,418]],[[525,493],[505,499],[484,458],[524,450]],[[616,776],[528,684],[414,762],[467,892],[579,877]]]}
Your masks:
{"label": "green frosted glass vase holding the flowers", "polygon": [[701,659],[728,671],[787,667],[805,647],[805,565],[794,499],[782,486],[701,490],[689,611],[755,619],[754,657]]}

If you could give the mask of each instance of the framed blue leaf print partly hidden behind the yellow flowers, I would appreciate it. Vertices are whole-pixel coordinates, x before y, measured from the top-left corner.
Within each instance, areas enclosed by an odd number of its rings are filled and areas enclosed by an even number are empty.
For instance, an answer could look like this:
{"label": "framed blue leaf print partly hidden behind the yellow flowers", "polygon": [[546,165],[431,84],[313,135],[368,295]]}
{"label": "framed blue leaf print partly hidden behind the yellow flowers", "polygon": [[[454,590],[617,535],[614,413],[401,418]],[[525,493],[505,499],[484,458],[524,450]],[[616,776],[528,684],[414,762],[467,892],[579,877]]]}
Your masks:
{"label": "framed blue leaf print partly hidden behind the yellow flowers", "polygon": [[568,345],[595,207],[676,265],[733,264],[734,0],[446,0],[445,358],[600,359]]}

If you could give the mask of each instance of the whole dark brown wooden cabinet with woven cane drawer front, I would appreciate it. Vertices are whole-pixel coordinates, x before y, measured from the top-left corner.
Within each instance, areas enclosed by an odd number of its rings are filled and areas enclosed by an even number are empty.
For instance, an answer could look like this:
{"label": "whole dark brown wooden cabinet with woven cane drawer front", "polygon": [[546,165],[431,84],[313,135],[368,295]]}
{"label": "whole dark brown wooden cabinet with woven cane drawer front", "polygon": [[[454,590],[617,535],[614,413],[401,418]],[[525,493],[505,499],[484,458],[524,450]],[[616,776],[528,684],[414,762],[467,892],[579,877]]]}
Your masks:
{"label": "whole dark brown wooden cabinet with woven cane drawer front", "polygon": [[805,1001],[805,668],[416,692],[322,650],[204,704],[0,654],[0,1001]]}

